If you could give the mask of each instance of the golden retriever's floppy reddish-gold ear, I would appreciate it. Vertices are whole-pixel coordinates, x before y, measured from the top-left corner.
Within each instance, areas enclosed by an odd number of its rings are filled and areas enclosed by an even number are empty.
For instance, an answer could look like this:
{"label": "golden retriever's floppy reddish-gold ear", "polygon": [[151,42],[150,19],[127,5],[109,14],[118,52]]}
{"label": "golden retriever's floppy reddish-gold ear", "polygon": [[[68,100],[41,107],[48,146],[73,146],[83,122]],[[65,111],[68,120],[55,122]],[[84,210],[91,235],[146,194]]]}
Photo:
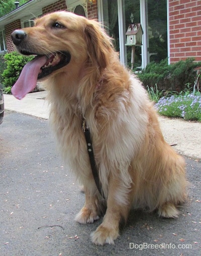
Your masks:
{"label": "golden retriever's floppy reddish-gold ear", "polygon": [[87,43],[87,54],[91,64],[96,64],[99,68],[106,68],[113,47],[109,36],[95,21],[90,21],[86,25],[84,32]]}

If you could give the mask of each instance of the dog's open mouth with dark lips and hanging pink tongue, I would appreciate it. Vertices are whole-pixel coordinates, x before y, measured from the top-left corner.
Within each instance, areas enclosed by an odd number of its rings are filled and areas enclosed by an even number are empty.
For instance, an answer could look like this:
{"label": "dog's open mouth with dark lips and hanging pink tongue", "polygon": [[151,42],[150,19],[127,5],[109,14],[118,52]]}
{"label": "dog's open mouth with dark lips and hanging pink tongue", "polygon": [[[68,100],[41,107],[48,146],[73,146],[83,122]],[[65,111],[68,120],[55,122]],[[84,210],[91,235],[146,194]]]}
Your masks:
{"label": "dog's open mouth with dark lips and hanging pink tongue", "polygon": [[[22,52],[25,55],[32,53]],[[49,55],[38,55],[31,62],[28,62],[12,87],[13,95],[22,99],[28,92],[32,91],[37,80],[50,75],[52,72],[64,67],[70,62],[69,52],[56,52]]]}

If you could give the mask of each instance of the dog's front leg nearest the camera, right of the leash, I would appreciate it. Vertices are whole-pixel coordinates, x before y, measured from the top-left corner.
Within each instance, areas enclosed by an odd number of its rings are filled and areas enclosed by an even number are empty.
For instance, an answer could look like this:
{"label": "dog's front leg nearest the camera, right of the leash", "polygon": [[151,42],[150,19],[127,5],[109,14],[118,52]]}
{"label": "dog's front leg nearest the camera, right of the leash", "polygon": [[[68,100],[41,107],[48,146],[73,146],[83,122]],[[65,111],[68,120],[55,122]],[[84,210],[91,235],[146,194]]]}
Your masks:
{"label": "dog's front leg nearest the camera, right of the leash", "polygon": [[[119,200],[124,197],[125,202]],[[110,177],[109,191],[107,199],[107,211],[103,223],[91,233],[92,242],[98,245],[105,243],[114,244],[114,240],[119,236],[119,225],[123,220],[127,221],[130,210],[130,192],[122,187],[121,181]]]}

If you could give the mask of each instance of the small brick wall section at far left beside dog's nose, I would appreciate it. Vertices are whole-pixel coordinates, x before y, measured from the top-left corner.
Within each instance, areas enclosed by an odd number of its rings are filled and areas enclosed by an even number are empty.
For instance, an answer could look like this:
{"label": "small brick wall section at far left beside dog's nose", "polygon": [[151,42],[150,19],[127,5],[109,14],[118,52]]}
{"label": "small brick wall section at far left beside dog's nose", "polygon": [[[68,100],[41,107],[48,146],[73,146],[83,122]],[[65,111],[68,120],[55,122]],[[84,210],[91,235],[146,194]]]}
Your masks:
{"label": "small brick wall section at far left beside dog's nose", "polygon": [[20,20],[16,20],[8,25],[5,26],[5,34],[6,34],[6,43],[7,43],[7,50],[8,52],[13,52],[14,50],[14,44],[13,41],[11,39],[11,33],[15,30],[15,29],[19,29],[21,28],[21,22]]}

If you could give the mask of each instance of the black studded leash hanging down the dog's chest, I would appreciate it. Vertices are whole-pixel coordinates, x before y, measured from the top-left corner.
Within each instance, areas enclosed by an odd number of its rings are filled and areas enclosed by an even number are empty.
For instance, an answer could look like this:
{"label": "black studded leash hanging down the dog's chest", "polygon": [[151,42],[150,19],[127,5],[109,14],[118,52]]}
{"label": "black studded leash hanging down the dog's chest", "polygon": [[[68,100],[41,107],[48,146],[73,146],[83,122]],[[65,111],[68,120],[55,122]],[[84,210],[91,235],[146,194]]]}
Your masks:
{"label": "black studded leash hanging down the dog's chest", "polygon": [[97,167],[96,167],[96,164],[95,164],[91,135],[90,135],[90,131],[89,131],[88,127],[86,126],[85,119],[83,119],[83,121],[82,121],[82,130],[84,132],[84,136],[85,136],[85,140],[86,140],[87,151],[88,151],[91,171],[92,171],[92,174],[93,174],[93,179],[95,181],[95,184],[96,184],[96,187],[97,187],[99,193],[105,199],[105,196],[104,196],[104,193],[103,193],[103,190],[102,190],[102,186],[100,184]]}

